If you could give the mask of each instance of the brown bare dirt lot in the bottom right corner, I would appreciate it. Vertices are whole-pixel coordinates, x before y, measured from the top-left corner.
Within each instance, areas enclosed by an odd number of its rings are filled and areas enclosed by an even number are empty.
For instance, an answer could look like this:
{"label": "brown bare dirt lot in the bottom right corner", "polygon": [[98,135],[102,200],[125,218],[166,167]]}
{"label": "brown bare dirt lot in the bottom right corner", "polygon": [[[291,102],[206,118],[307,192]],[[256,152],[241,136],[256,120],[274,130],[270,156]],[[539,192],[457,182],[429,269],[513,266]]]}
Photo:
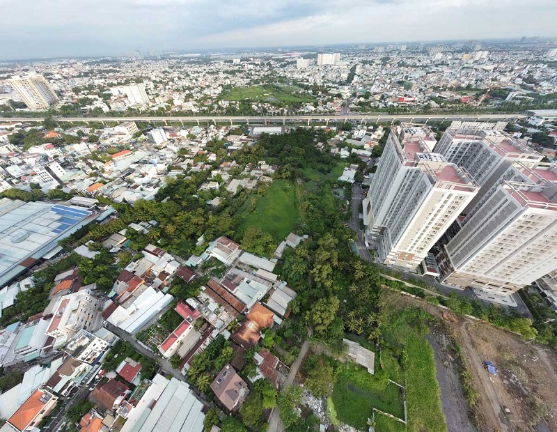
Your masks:
{"label": "brown bare dirt lot in the bottom right corner", "polygon": [[[480,381],[486,388],[499,416],[499,426],[487,422],[485,430],[557,431],[557,353],[483,323],[464,323],[460,334],[475,385]],[[489,375],[483,360],[493,362],[499,374]]]}

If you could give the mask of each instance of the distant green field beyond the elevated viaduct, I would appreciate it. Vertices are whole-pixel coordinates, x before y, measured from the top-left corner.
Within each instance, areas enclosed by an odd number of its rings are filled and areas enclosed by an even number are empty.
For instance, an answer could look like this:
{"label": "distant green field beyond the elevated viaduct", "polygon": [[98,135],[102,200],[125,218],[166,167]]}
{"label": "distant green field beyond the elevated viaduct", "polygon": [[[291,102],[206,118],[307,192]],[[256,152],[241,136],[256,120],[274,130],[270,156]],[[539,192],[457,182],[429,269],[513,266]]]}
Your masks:
{"label": "distant green field beyond the elevated viaduct", "polygon": [[295,93],[300,88],[295,86],[249,86],[234,87],[222,94],[225,100],[253,100],[258,102],[283,102],[286,105],[313,102],[311,95]]}

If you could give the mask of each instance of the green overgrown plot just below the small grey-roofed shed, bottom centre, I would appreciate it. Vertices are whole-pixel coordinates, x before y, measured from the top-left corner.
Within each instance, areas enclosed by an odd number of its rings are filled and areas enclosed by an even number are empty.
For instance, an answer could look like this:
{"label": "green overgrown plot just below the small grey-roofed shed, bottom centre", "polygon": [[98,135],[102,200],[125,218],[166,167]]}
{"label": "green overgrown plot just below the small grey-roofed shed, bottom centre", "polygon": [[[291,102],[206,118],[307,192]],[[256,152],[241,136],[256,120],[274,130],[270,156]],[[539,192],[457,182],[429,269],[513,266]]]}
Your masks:
{"label": "green overgrown plot just below the small grey-roofed shed, bottom centre", "polygon": [[362,431],[368,429],[368,418],[373,415],[372,408],[399,418],[404,417],[399,387],[381,383],[366,369],[350,362],[338,367],[331,401],[340,422]]}

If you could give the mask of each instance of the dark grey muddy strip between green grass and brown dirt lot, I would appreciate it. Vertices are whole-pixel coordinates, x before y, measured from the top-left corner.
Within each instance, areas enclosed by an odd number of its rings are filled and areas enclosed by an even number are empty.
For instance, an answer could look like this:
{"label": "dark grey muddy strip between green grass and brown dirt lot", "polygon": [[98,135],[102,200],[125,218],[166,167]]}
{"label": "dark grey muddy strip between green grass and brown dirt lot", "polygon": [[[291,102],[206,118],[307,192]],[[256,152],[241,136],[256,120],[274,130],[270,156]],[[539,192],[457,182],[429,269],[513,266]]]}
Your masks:
{"label": "dark grey muddy strip between green grass and brown dirt lot", "polygon": [[428,334],[427,341],[433,348],[448,432],[476,432],[468,418],[468,402],[462,392],[457,364],[449,353],[450,341],[438,332]]}

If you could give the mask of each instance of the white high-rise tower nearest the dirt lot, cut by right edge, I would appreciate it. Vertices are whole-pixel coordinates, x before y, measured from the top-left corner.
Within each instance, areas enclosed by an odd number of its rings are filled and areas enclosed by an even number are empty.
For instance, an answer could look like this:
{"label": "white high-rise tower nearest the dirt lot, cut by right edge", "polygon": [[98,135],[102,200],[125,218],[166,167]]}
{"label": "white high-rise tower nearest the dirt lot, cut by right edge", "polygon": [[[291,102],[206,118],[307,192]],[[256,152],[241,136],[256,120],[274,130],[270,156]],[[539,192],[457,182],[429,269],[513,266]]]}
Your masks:
{"label": "white high-rise tower nearest the dirt lot, cut by right edge", "polygon": [[476,288],[486,300],[505,298],[556,270],[557,185],[499,185],[437,261],[442,281]]}

